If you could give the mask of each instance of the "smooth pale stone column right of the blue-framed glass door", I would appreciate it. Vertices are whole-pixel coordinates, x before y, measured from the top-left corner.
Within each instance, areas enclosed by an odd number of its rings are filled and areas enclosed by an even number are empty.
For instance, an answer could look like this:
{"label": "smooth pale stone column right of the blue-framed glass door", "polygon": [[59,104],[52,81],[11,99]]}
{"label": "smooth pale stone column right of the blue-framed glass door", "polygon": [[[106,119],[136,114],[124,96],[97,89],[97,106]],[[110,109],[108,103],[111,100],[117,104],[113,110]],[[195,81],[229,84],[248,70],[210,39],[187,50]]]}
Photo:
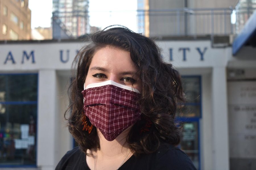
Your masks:
{"label": "smooth pale stone column right of the blue-framed glass door", "polygon": [[212,69],[213,169],[229,170],[227,78],[225,67]]}

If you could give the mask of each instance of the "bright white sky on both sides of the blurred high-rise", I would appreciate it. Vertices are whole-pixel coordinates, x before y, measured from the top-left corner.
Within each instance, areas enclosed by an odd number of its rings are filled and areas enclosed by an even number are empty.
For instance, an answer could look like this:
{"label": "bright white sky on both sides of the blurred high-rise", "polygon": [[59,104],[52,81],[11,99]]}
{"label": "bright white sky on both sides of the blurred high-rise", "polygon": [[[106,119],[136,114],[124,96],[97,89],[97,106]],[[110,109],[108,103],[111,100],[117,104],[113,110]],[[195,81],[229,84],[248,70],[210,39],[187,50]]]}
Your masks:
{"label": "bright white sky on both sides of the blurred high-rise", "polygon": [[[52,0],[29,0],[31,28],[50,27]],[[102,29],[114,24],[124,25],[137,31],[137,0],[90,0],[90,25]]]}

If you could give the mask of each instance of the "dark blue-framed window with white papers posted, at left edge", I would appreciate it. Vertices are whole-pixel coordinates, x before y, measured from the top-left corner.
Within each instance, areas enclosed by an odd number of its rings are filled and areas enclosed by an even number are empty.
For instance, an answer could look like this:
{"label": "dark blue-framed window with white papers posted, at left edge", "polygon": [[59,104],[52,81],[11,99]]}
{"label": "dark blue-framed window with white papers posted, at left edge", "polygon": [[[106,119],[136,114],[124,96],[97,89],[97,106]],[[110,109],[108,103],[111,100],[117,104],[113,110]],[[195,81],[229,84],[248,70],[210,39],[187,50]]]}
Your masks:
{"label": "dark blue-framed window with white papers posted, at left edge", "polygon": [[0,75],[0,167],[36,166],[37,79]]}

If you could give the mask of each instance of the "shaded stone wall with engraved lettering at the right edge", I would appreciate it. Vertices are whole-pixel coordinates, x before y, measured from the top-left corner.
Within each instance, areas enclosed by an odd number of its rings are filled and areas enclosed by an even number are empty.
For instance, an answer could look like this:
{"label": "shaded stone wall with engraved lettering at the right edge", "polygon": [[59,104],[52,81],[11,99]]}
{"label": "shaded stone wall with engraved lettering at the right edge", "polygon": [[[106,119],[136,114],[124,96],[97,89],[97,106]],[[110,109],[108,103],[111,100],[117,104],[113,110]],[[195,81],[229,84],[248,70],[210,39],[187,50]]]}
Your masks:
{"label": "shaded stone wall with engraved lettering at the right edge", "polygon": [[256,168],[255,73],[255,68],[228,69],[230,169],[234,170]]}

